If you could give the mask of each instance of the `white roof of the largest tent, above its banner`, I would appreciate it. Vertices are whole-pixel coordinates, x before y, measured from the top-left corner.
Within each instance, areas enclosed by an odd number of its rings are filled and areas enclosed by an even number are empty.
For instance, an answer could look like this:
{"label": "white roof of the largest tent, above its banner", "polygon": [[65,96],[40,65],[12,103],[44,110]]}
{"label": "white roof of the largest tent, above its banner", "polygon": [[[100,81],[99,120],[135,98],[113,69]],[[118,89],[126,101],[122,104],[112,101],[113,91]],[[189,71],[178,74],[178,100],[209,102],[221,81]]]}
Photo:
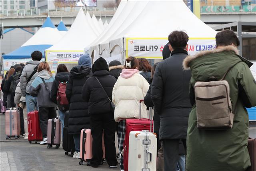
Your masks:
{"label": "white roof of the largest tent, above its banner", "polygon": [[[180,12],[182,15],[175,15]],[[198,19],[182,0],[154,0],[148,1],[140,15],[125,30],[114,32],[111,40],[122,37],[165,38],[174,30],[185,30],[190,38],[216,35],[216,31]]]}

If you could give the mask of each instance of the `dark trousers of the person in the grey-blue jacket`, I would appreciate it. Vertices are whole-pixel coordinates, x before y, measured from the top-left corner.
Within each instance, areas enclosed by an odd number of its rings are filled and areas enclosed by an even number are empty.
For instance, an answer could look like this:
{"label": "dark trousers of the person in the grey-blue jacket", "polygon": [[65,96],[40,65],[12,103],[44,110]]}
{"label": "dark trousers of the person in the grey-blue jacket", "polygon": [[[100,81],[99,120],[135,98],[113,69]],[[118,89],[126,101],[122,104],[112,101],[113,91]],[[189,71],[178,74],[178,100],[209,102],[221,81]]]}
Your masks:
{"label": "dark trousers of the person in the grey-blue jacket", "polygon": [[53,119],[56,117],[56,107],[39,107],[38,110],[40,128],[42,130],[42,135],[44,138],[47,137],[47,122],[48,119]]}

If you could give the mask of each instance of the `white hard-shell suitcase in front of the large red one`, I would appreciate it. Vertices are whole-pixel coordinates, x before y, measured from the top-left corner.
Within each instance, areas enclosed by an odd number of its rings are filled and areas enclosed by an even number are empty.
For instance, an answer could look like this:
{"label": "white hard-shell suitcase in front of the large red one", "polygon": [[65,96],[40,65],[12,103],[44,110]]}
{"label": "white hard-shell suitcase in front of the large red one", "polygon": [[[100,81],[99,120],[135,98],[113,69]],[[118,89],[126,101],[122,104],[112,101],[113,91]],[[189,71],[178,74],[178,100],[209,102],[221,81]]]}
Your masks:
{"label": "white hard-shell suitcase in front of the large red one", "polygon": [[129,171],[156,171],[156,133],[131,131],[129,135]]}

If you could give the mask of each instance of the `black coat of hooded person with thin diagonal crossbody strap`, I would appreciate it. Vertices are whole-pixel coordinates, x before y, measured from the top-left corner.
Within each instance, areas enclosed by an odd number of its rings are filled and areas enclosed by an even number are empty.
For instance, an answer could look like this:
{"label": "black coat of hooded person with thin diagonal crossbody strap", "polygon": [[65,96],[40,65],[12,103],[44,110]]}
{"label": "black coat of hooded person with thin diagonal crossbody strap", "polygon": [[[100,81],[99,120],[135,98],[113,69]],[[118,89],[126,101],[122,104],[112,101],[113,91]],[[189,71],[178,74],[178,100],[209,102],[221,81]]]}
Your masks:
{"label": "black coat of hooded person with thin diagonal crossbody strap", "polygon": [[98,78],[110,99],[112,99],[112,91],[116,83],[116,79],[110,76],[107,70],[94,72],[93,77],[89,78],[84,84],[82,91],[84,100],[88,101],[89,113],[90,115],[111,113],[110,101],[95,77]]}

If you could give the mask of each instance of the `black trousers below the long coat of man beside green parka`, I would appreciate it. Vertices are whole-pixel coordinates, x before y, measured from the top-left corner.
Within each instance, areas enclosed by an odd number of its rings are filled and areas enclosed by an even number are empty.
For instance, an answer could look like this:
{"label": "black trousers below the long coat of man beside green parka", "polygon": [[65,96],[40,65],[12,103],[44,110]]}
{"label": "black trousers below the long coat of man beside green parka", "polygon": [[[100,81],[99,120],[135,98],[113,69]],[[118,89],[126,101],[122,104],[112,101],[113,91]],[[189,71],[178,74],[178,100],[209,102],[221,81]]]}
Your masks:
{"label": "black trousers below the long coat of man beside green parka", "polygon": [[[186,139],[181,139],[186,151]],[[180,139],[163,139],[164,171],[176,171],[179,157]]]}

